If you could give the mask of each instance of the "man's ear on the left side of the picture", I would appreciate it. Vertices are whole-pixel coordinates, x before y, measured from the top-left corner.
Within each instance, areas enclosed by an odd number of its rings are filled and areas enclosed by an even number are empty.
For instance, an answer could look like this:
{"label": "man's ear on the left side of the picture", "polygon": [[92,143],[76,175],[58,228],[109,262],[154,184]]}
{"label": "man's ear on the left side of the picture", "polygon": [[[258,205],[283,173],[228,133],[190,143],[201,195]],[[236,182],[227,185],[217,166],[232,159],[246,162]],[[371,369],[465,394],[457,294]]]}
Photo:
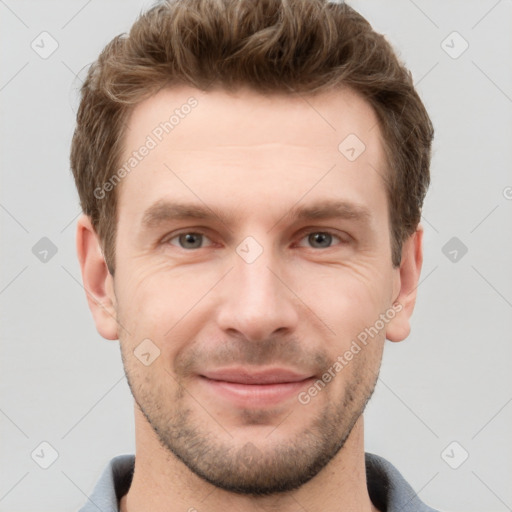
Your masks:
{"label": "man's ear on the left side of the picture", "polygon": [[107,340],[117,340],[119,336],[114,278],[108,271],[100,240],[87,215],[78,219],[76,251],[96,329]]}

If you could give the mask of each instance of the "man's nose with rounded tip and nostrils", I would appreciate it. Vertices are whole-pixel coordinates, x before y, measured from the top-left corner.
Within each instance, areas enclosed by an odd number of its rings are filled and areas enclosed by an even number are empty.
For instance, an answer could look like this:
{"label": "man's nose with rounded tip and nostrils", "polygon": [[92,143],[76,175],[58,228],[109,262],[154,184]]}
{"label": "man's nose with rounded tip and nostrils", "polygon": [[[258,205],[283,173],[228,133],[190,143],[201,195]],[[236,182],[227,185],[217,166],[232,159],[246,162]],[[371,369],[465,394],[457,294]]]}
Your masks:
{"label": "man's nose with rounded tip and nostrils", "polygon": [[251,263],[238,254],[224,280],[218,326],[227,334],[248,341],[264,341],[276,334],[290,334],[297,326],[298,300],[290,272],[269,249]]}

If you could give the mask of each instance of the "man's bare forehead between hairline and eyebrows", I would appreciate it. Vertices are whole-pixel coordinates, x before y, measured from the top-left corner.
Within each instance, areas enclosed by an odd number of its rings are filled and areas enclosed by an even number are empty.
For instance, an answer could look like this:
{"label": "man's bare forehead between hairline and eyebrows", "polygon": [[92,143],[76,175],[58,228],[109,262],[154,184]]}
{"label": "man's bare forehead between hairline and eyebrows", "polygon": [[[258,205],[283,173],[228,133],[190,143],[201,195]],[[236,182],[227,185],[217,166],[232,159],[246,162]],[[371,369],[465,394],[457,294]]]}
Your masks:
{"label": "man's bare forehead between hairline and eyebrows", "polygon": [[278,203],[292,206],[305,193],[318,199],[339,191],[359,204],[385,195],[377,117],[350,89],[164,89],[134,108],[124,147],[123,163],[133,167],[126,166],[118,204],[134,221],[135,211],[140,220],[173,198],[250,211],[264,195],[277,215]]}

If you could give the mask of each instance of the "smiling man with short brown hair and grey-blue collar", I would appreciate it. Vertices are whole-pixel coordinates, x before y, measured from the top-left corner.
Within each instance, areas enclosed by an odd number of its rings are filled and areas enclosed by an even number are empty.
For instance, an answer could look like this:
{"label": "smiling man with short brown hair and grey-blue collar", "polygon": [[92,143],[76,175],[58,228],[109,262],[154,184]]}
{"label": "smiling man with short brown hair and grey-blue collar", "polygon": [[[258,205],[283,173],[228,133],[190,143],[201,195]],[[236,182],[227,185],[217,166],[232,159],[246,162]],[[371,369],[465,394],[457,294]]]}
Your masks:
{"label": "smiling man with short brown hair and grey-blue collar", "polygon": [[77,250],[136,456],[82,511],[432,510],[365,455],[362,416],[409,334],[432,137],[344,4],[162,2],[104,49],[71,152]]}

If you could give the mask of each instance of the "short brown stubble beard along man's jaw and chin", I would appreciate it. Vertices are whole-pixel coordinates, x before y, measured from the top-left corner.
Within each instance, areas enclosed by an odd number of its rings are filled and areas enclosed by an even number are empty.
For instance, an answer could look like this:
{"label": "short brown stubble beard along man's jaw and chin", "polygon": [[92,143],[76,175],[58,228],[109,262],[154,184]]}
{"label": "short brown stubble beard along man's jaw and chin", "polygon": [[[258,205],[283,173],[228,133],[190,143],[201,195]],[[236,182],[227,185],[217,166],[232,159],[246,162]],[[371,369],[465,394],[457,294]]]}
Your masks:
{"label": "short brown stubble beard along man's jaw and chin", "polygon": [[[191,472],[206,482],[226,491],[249,496],[268,496],[297,489],[315,477],[340,452],[355,423],[371,398],[378,378],[365,366],[364,358],[354,361],[350,381],[342,397],[334,404],[326,400],[328,388],[315,400],[324,399],[321,413],[300,432],[279,444],[237,442],[223,427],[216,425],[183,385],[178,384],[173,397],[166,397],[169,388],[141,376],[127,364],[123,351],[123,364],[128,385],[137,406],[155,432],[161,446],[171,457],[180,460]],[[357,364],[359,363],[359,364]],[[133,370],[133,371],[132,371]],[[336,381],[334,379],[333,383]],[[174,384],[176,385],[176,380]],[[331,386],[330,383],[328,386]],[[196,411],[186,401],[196,406]],[[298,421],[307,415],[308,405],[300,405],[277,427]],[[206,418],[203,423],[197,416]],[[265,411],[241,411],[244,424],[262,422]],[[209,422],[209,423],[207,423]],[[208,427],[212,425],[213,428]],[[215,430],[220,434],[215,433]]]}

